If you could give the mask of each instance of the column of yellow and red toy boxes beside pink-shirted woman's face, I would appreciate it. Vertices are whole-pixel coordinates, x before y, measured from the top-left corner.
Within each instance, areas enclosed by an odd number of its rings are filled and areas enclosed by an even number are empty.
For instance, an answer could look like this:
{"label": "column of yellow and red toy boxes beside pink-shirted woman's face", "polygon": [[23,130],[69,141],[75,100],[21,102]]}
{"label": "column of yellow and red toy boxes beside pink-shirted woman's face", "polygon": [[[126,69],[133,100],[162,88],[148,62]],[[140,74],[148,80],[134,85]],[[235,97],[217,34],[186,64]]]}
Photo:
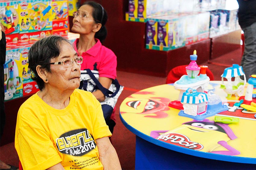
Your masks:
{"label": "column of yellow and red toy boxes beside pink-shirted woman's face", "polygon": [[68,24],[68,4],[67,0],[53,0],[53,20],[52,20],[52,34],[67,37],[69,30]]}

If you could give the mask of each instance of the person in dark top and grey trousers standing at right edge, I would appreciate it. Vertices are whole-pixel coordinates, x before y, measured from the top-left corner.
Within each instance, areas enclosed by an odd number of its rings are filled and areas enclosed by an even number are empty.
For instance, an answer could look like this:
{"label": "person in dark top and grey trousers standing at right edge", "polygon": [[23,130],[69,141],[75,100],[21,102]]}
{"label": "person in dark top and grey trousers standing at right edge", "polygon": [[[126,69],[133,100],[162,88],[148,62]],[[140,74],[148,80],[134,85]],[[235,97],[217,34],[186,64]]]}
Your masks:
{"label": "person in dark top and grey trousers standing at right edge", "polygon": [[252,74],[256,74],[256,0],[237,0],[237,2],[238,22],[245,36],[241,66],[248,80]]}

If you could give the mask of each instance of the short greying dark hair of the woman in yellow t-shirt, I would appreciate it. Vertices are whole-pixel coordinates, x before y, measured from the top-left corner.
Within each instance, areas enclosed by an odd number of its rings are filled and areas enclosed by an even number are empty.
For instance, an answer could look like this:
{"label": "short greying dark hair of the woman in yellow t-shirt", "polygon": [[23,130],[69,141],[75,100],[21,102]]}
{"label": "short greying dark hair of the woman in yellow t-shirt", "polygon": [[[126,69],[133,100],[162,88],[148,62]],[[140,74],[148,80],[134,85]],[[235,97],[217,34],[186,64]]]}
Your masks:
{"label": "short greying dark hair of the woman in yellow t-shirt", "polygon": [[62,42],[64,41],[73,46],[68,39],[57,35],[52,35],[36,41],[30,47],[28,52],[28,67],[31,71],[32,80],[36,81],[41,91],[45,87],[45,83],[38,76],[36,66],[41,65],[42,68],[45,68],[48,72],[51,72],[50,65],[48,63],[50,63],[52,58],[60,55],[62,50]]}

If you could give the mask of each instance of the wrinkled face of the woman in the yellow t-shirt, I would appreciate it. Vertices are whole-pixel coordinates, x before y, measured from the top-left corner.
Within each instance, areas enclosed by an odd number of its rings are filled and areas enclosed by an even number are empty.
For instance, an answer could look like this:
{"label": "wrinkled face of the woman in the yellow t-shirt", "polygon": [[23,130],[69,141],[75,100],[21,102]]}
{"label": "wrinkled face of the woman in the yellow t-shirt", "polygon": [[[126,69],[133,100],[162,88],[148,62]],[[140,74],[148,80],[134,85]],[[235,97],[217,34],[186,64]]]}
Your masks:
{"label": "wrinkled face of the woman in the yellow t-shirt", "polygon": [[[52,58],[51,62],[65,61],[67,59],[74,59],[77,57],[76,51],[69,43],[63,42],[61,49],[62,51],[60,55],[56,58]],[[80,64],[77,64],[75,61],[73,61],[73,63],[68,67],[65,67],[63,64],[51,64],[50,67],[51,73],[47,73],[47,78],[48,84],[53,88],[64,91],[68,89],[74,90],[79,87],[81,69]]]}

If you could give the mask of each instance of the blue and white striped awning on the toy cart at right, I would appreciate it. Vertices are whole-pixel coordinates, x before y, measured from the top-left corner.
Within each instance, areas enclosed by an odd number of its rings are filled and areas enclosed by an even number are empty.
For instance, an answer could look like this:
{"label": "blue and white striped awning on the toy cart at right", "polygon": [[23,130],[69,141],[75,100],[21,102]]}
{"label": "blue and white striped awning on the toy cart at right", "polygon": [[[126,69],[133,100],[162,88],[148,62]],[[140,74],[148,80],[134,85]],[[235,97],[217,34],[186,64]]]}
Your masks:
{"label": "blue and white striped awning on the toy cart at right", "polygon": [[244,74],[245,73],[242,66],[239,66],[238,64],[233,64],[232,67],[225,68],[221,77],[228,79],[232,77],[243,76]]}

